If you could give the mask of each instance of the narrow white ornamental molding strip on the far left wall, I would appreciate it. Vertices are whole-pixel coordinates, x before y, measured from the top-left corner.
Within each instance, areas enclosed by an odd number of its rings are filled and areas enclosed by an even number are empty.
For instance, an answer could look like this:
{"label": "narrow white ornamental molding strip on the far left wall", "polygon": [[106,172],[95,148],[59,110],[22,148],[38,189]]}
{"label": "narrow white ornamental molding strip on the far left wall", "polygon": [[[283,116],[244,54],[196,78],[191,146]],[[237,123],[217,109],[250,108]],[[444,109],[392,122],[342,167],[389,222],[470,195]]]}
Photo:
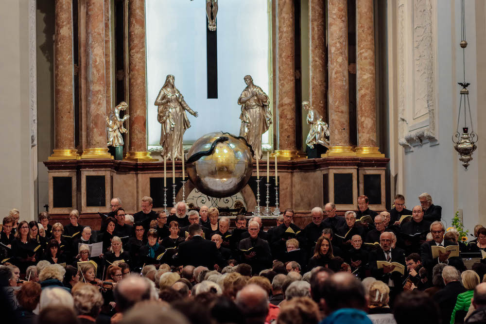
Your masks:
{"label": "narrow white ornamental molding strip on the far left wall", "polygon": [[37,145],[37,43],[36,0],[29,0],[29,108],[31,116],[31,146]]}

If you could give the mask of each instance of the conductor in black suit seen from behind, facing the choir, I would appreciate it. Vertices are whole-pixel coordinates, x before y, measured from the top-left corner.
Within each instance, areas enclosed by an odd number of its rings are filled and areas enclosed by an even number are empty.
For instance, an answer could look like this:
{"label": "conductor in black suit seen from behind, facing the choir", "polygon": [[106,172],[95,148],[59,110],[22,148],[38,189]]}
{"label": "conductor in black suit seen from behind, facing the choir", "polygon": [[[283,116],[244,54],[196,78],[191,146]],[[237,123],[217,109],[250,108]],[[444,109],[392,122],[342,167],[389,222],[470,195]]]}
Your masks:
{"label": "conductor in black suit seen from behind, facing the choir", "polygon": [[203,230],[198,223],[189,226],[189,240],[179,244],[178,260],[183,266],[205,266],[208,269],[219,268],[216,243],[203,239]]}

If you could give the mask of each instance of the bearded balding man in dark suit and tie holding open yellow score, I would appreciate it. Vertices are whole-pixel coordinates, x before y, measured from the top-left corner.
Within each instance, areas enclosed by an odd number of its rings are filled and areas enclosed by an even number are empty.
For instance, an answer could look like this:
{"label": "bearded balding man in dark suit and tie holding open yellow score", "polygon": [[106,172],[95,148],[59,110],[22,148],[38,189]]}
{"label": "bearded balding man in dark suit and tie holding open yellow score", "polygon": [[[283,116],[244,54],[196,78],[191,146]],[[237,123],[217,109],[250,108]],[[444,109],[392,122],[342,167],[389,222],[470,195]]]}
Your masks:
{"label": "bearded balding man in dark suit and tie holding open yellow score", "polygon": [[[390,300],[402,290],[402,274],[393,272],[395,266],[385,266],[378,269],[377,261],[398,262],[405,267],[405,255],[399,248],[392,249],[393,235],[391,232],[383,232],[380,235],[380,247],[369,254],[369,268],[371,275],[377,280],[381,280],[390,287]],[[393,297],[393,298],[392,298]]]}

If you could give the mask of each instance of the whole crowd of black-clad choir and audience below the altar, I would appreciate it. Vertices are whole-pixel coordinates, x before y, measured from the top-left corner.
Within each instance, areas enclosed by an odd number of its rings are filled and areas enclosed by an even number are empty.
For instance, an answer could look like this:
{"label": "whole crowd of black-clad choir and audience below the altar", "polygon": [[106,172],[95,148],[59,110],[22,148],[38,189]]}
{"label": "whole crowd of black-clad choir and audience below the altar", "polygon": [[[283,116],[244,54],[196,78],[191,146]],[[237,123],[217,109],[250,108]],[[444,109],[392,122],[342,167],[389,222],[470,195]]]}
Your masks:
{"label": "whole crowd of black-clad choir and audience below the altar", "polygon": [[[99,232],[77,210],[63,226],[14,209],[0,232],[4,323],[486,323],[486,228],[466,245],[418,198],[377,213],[360,196],[344,217],[328,203],[304,228],[286,209],[267,231],[244,215],[231,230],[214,207],[156,212],[150,197],[133,216],[112,199]],[[468,270],[459,251],[481,262]]]}

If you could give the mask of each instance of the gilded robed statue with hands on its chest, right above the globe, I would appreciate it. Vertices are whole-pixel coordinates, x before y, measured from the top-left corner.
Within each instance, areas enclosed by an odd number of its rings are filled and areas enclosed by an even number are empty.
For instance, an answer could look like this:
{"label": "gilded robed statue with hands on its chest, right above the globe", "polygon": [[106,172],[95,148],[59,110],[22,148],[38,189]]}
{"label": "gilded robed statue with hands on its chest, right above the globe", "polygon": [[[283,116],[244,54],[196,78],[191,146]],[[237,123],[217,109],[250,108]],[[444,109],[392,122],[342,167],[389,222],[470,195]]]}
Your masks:
{"label": "gilded robed statue with hands on its chest, right above the globe", "polygon": [[253,148],[254,158],[261,159],[261,135],[272,124],[272,113],[268,108],[270,99],[259,86],[253,84],[250,75],[244,77],[244,82],[247,86],[238,98],[238,104],[242,105],[240,136]]}

